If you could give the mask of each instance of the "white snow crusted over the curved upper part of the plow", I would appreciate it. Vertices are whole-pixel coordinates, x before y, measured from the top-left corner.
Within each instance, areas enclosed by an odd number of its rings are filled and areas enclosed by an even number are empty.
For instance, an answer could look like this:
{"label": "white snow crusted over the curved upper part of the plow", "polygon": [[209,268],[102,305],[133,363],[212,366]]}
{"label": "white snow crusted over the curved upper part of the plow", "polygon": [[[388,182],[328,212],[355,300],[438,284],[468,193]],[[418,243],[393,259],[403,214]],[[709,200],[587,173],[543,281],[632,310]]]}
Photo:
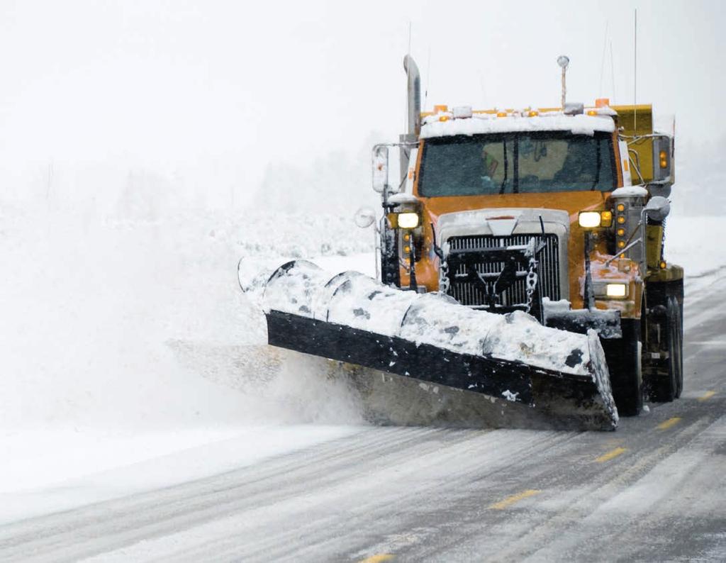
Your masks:
{"label": "white snow crusted over the curved upper part of the plow", "polygon": [[591,375],[584,334],[547,328],[524,312],[495,315],[437,293],[389,288],[357,273],[333,275],[311,262],[280,267],[266,284],[263,307],[452,352]]}

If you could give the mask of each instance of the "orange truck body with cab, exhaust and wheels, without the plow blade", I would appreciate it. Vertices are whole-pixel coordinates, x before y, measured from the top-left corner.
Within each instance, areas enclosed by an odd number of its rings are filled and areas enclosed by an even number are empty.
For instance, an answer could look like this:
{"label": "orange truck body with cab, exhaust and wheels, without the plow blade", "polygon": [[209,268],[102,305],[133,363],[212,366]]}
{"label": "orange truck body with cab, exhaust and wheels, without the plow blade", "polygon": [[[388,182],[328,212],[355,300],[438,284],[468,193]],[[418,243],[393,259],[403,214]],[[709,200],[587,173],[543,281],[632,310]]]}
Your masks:
{"label": "orange truck body with cab, exhaust and wheels, without the plow blade", "polygon": [[[664,259],[672,131],[650,105],[421,113],[373,149],[380,280],[460,304],[597,331],[619,412],[682,389],[682,268]],[[391,185],[389,150],[400,153]]]}

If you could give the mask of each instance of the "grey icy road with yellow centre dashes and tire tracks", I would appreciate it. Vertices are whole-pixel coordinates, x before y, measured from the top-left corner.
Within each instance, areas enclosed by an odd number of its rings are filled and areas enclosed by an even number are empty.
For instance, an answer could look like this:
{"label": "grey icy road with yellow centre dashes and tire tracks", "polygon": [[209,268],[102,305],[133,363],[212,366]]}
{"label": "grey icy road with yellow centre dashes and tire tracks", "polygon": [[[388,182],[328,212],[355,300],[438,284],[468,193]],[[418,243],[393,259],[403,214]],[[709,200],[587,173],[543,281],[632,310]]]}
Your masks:
{"label": "grey icy road with yellow centre dashes and tire tracks", "polygon": [[360,427],[4,524],[0,560],[723,561],[722,281],[689,296],[682,399],[617,432]]}

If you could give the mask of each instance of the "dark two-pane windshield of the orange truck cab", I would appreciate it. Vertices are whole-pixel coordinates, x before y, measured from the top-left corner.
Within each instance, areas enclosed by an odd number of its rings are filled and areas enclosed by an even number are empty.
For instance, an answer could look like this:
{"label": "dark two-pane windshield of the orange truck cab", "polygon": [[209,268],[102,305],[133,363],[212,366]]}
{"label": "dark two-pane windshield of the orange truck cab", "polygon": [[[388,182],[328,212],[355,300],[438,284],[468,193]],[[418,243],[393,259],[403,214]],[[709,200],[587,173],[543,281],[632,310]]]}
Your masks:
{"label": "dark two-pane windshield of the orange truck cab", "polygon": [[418,192],[424,197],[552,193],[615,187],[613,140],[559,131],[426,139]]}

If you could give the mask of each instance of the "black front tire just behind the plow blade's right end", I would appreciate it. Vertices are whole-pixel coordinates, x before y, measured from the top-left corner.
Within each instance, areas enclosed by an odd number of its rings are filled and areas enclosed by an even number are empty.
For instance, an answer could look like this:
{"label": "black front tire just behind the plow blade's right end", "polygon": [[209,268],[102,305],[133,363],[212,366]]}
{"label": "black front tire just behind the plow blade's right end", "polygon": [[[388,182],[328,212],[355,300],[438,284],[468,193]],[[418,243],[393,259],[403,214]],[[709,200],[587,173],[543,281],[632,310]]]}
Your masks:
{"label": "black front tire just behind the plow blade's right end", "polygon": [[637,416],[643,410],[643,345],[640,319],[621,320],[623,337],[603,339],[613,398],[620,416]]}

